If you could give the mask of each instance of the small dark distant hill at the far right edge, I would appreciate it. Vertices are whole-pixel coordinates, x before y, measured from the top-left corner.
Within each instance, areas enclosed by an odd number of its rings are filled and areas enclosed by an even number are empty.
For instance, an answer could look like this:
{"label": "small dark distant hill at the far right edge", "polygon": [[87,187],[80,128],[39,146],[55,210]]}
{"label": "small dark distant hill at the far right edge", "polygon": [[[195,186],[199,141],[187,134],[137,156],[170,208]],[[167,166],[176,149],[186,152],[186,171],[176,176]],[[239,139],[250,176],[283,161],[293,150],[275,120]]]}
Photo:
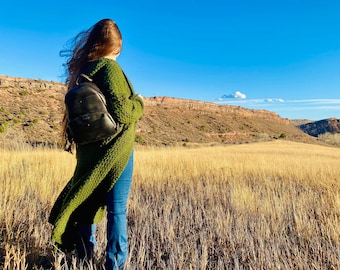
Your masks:
{"label": "small dark distant hill at the far right edge", "polygon": [[298,125],[305,133],[318,137],[325,133],[340,133],[340,119],[329,118]]}

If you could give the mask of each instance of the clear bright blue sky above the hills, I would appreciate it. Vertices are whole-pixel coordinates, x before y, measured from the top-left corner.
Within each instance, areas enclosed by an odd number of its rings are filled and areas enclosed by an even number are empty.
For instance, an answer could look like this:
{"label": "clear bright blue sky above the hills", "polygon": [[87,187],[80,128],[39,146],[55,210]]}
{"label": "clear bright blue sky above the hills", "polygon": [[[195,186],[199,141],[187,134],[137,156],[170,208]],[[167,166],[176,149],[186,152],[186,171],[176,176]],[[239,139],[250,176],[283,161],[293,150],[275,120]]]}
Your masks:
{"label": "clear bright blue sky above the hills", "polygon": [[135,90],[340,118],[340,1],[22,1],[0,8],[0,74],[62,82],[59,51],[102,18]]}

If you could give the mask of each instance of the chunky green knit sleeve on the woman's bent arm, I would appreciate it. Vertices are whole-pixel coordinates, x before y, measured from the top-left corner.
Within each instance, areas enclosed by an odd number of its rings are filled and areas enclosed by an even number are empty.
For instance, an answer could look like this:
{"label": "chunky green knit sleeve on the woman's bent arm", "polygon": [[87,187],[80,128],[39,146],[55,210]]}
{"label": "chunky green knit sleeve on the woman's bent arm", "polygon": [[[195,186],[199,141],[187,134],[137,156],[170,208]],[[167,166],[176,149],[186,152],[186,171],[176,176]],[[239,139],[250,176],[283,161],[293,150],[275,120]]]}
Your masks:
{"label": "chunky green knit sleeve on the woman's bent arm", "polygon": [[[131,83],[125,77],[119,64],[111,59],[100,59],[94,81],[107,98],[112,116],[122,124],[137,122],[143,115],[143,99],[136,95]],[[92,72],[91,72],[92,73]]]}

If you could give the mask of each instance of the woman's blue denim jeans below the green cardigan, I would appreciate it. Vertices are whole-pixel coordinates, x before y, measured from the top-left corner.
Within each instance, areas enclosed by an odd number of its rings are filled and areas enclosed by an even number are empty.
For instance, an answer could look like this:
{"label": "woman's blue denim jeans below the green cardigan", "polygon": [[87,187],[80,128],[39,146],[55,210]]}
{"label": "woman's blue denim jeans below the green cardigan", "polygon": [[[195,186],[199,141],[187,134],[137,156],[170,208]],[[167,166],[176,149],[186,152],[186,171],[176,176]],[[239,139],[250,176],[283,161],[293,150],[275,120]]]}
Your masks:
{"label": "woman's blue denim jeans below the green cardigan", "polygon": [[[133,152],[118,178],[116,184],[107,194],[107,246],[106,269],[123,269],[128,256],[127,235],[127,201],[133,175]],[[80,238],[77,244],[78,256],[90,258],[96,246],[95,224],[80,225]]]}

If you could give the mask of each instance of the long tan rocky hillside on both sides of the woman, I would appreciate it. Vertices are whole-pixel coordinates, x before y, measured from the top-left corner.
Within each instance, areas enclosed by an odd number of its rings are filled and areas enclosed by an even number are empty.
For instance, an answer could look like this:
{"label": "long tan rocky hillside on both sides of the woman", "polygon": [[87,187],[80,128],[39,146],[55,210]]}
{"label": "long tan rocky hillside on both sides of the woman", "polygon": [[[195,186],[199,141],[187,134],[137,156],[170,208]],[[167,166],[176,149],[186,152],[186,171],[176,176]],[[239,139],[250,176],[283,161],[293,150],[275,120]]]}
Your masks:
{"label": "long tan rocky hillside on both sides of the woman", "polygon": [[[65,85],[0,75],[0,143],[60,142]],[[316,139],[264,110],[170,97],[145,98],[137,142],[148,145]]]}

